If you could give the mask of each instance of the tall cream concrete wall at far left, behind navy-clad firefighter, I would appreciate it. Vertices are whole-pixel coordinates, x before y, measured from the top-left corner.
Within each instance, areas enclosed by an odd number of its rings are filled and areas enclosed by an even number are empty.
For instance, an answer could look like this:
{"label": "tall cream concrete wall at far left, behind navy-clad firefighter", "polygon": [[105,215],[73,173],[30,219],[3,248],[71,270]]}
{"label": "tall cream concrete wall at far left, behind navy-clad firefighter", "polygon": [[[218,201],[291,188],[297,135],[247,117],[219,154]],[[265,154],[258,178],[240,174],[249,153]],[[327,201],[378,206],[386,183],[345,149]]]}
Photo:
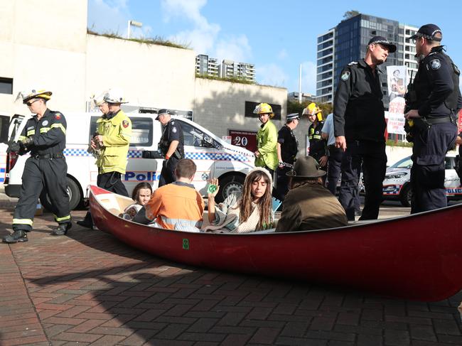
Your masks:
{"label": "tall cream concrete wall at far left, behind navy-clad firefighter", "polygon": [[53,90],[52,109],[83,100],[86,31],[87,0],[0,1],[0,77],[13,78],[0,108],[28,112],[15,100],[33,87]]}

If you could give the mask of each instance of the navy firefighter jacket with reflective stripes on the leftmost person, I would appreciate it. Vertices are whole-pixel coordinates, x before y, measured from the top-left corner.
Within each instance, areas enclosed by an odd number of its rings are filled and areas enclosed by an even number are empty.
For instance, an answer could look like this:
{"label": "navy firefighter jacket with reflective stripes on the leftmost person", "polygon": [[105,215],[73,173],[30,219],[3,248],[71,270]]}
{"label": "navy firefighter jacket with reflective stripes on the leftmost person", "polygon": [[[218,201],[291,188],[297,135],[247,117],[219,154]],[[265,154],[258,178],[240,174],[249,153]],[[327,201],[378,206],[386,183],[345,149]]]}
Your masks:
{"label": "navy firefighter jacket with reflective stripes on the leftmost person", "polygon": [[61,112],[46,109],[40,120],[37,115],[28,119],[19,140],[33,137],[33,146],[27,148],[32,156],[63,153],[66,146],[66,127],[66,119]]}

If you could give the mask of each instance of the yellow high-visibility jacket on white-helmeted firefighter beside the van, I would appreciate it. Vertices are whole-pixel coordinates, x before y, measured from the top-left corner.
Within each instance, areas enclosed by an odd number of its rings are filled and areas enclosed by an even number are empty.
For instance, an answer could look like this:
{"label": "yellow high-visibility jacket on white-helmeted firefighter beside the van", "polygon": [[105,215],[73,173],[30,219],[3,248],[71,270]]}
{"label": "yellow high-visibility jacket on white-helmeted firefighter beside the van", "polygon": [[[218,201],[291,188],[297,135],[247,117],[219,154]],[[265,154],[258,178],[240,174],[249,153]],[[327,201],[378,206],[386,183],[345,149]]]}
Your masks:
{"label": "yellow high-visibility jacket on white-helmeted firefighter beside the van", "polygon": [[98,119],[97,131],[103,136],[100,158],[96,161],[99,173],[119,172],[124,174],[125,168],[127,168],[131,120],[124,111],[120,110],[110,119],[105,117]]}

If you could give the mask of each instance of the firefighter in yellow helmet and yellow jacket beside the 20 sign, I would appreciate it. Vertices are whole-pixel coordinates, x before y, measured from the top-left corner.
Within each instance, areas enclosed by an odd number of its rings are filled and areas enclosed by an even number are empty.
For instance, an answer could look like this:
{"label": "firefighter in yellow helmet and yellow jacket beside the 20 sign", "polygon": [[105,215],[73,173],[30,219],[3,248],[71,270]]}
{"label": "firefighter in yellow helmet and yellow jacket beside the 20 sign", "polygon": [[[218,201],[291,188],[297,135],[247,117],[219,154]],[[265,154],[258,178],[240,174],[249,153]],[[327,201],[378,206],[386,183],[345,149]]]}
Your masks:
{"label": "firefighter in yellow helmet and yellow jacket beside the 20 sign", "polygon": [[258,119],[262,123],[257,133],[257,151],[255,154],[255,166],[266,168],[274,175],[274,170],[278,165],[277,158],[277,129],[271,119],[274,117],[272,107],[267,103],[257,104],[254,114],[258,114]]}

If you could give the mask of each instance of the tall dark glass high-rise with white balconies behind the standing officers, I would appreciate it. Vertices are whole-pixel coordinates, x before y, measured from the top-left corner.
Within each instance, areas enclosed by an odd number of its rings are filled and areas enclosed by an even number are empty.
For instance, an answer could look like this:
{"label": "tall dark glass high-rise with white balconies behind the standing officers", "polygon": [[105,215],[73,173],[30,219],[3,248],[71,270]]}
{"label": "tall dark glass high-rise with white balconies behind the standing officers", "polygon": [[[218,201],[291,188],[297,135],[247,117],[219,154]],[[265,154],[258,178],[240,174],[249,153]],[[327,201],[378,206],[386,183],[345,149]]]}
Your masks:
{"label": "tall dark glass high-rise with white balconies behind the standing officers", "polygon": [[[397,45],[388,56],[387,65],[406,65],[417,72],[415,47],[409,41],[418,28],[391,19],[358,14],[338,23],[335,28],[318,36],[316,98],[318,102],[333,102],[340,72],[345,65],[365,56],[367,43],[374,36],[383,36]],[[415,72],[414,72],[415,74]],[[387,81],[382,87],[387,94]],[[388,99],[384,97],[385,107]]]}

